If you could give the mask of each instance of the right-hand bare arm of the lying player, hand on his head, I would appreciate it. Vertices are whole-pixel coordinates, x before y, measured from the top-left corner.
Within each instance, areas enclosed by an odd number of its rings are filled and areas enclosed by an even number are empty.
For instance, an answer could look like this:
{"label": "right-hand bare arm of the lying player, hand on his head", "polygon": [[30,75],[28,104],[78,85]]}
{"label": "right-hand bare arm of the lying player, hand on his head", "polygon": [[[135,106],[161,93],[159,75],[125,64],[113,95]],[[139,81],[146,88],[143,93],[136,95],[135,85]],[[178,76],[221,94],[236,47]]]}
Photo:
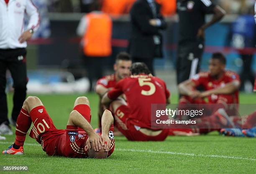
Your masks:
{"label": "right-hand bare arm of the lying player, hand on his head", "polygon": [[[108,137],[108,132],[109,132],[109,128],[110,126],[113,124],[114,122],[114,118],[112,113],[109,110],[105,110],[102,114],[102,118],[101,118],[101,127],[102,127],[102,141],[104,142],[104,149],[105,151],[108,151],[110,149],[110,145],[111,145],[111,141]],[[107,142],[107,144],[105,144],[105,142]]]}

